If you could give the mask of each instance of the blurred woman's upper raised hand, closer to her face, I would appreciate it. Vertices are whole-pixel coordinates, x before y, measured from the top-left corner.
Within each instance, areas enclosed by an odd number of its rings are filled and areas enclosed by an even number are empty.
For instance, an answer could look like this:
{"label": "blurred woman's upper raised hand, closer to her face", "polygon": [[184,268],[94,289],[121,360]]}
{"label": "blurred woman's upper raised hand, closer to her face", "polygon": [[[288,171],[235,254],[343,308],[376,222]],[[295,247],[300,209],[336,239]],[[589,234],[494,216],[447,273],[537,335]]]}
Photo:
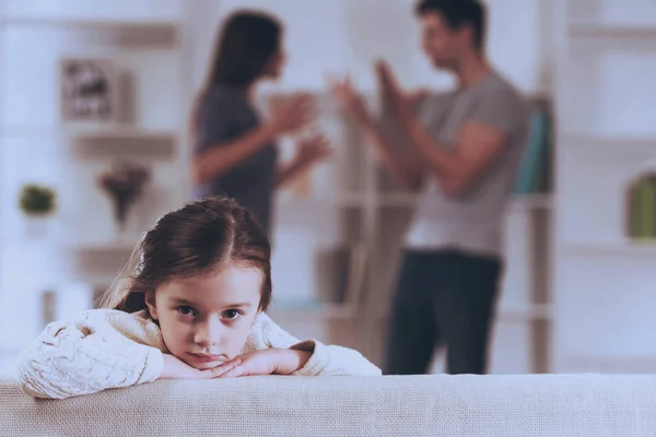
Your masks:
{"label": "blurred woman's upper raised hand, closer to her face", "polygon": [[316,118],[316,110],[308,94],[295,94],[290,98],[273,101],[269,128],[278,135],[293,133]]}

